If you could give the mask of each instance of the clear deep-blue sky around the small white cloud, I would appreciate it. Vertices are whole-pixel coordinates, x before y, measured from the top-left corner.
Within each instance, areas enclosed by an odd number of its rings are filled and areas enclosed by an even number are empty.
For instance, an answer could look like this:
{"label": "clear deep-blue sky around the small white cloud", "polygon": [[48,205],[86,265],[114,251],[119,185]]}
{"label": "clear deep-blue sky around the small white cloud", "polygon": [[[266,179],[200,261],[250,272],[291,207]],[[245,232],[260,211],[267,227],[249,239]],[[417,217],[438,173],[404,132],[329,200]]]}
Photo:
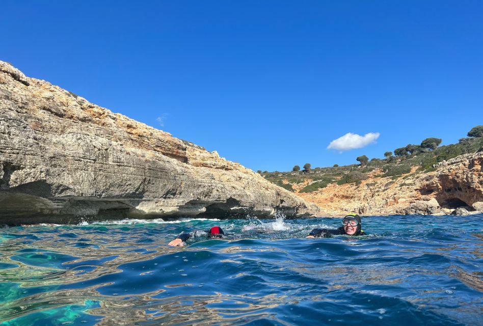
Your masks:
{"label": "clear deep-blue sky around the small white cloud", "polygon": [[[483,124],[483,2],[2,2],[0,60],[253,170]],[[375,143],[327,149],[346,133]],[[373,140],[374,141],[374,140]]]}

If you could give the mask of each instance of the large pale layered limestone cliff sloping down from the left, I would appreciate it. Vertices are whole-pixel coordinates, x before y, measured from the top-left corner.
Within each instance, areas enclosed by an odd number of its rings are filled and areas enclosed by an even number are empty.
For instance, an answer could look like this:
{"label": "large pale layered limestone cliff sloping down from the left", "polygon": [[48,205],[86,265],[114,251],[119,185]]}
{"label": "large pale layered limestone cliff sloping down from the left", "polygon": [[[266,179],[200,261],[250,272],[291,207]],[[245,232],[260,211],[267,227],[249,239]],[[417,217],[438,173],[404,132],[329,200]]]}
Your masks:
{"label": "large pale layered limestone cliff sloping down from the left", "polygon": [[216,152],[0,61],[0,223],[277,211],[318,208]]}

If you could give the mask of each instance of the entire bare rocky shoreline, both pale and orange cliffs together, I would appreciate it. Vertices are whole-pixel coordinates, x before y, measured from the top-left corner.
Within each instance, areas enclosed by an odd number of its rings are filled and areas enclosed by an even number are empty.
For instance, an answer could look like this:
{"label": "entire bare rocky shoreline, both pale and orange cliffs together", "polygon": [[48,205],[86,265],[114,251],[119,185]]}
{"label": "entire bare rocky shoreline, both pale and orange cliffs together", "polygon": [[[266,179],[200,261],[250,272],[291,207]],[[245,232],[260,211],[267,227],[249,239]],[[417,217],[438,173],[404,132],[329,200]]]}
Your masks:
{"label": "entire bare rocky shoreline, both pale and orange cliffs together", "polygon": [[482,152],[435,168],[294,194],[0,61],[0,224],[483,211]]}

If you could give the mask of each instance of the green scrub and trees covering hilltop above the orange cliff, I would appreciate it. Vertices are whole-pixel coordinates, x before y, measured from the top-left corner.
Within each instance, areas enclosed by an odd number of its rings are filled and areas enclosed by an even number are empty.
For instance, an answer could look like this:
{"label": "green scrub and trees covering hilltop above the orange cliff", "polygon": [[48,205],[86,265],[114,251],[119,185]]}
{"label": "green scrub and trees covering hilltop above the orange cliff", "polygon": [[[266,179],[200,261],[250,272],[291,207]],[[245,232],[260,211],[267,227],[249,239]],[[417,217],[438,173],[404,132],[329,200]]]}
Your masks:
{"label": "green scrub and trees covering hilltop above the orange cliff", "polygon": [[[266,172],[262,176],[277,185],[283,186],[289,191],[293,191],[292,185],[301,184],[307,180],[313,181],[305,186],[301,192],[313,192],[324,188],[330,183],[352,184],[358,183],[368,178],[367,174],[373,177],[383,177],[391,179],[406,179],[411,175],[434,171],[435,165],[443,160],[448,160],[462,154],[483,151],[483,126],[476,126],[468,132],[468,138],[460,139],[459,143],[446,146],[439,146],[441,140],[438,138],[427,138],[420,145],[409,144],[405,147],[395,149],[393,152],[384,153],[386,158],[373,158],[367,161],[364,166],[363,159],[359,160],[361,165],[351,164],[347,166],[316,167],[311,168],[306,164],[303,170],[289,172]],[[392,156],[394,153],[395,156]],[[365,155],[363,155],[365,156]],[[367,157],[367,156],[366,156]],[[358,157],[359,158],[359,157]],[[414,171],[411,174],[411,171]],[[381,171],[381,172],[379,172]],[[284,184],[288,181],[288,184]],[[391,180],[390,182],[394,182]],[[371,186],[372,183],[366,184]]]}

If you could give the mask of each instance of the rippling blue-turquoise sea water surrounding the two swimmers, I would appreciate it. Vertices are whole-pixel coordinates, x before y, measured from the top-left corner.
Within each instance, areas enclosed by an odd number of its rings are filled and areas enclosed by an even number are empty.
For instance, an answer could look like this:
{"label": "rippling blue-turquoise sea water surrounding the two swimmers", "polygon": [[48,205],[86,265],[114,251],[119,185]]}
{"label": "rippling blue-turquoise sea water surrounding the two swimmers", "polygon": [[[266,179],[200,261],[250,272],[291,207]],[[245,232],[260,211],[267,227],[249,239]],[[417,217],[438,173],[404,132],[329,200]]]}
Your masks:
{"label": "rippling blue-turquoise sea water surrounding the two swimmers", "polygon": [[[0,229],[2,325],[482,325],[483,215]],[[229,239],[166,244],[220,225]]]}

